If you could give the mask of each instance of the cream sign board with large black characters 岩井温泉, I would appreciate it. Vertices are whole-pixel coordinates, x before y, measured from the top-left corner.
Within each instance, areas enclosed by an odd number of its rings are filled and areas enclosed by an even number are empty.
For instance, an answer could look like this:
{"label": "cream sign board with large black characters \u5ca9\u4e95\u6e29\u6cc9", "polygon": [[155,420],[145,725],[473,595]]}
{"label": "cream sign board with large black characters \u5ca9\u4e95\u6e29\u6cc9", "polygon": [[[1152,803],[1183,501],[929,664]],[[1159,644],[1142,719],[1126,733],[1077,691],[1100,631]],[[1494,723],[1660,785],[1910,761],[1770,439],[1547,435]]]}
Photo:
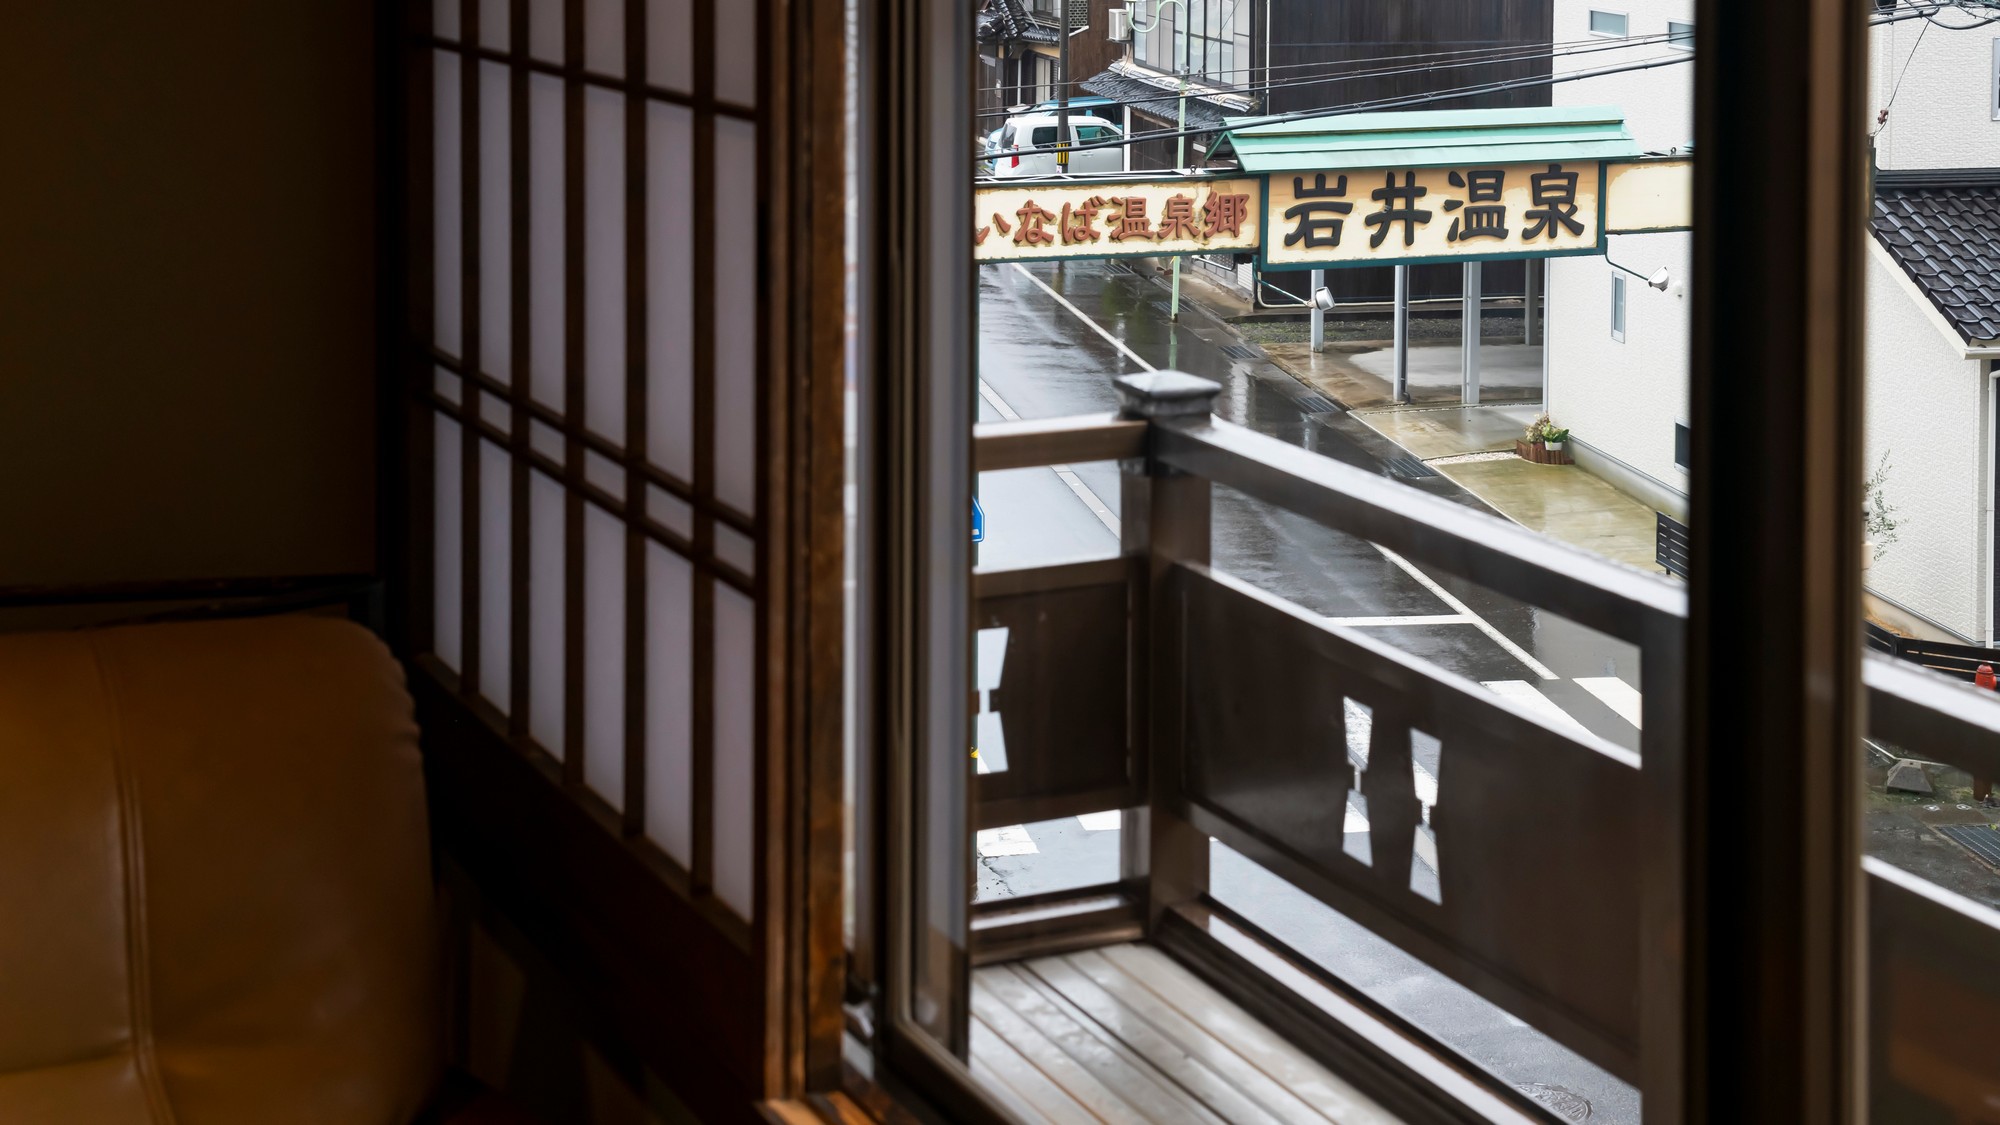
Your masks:
{"label": "cream sign board with large black characters \u5ca9\u4e95\u6e29\u6cc9", "polygon": [[1274,268],[1596,254],[1596,160],[1272,172]]}

